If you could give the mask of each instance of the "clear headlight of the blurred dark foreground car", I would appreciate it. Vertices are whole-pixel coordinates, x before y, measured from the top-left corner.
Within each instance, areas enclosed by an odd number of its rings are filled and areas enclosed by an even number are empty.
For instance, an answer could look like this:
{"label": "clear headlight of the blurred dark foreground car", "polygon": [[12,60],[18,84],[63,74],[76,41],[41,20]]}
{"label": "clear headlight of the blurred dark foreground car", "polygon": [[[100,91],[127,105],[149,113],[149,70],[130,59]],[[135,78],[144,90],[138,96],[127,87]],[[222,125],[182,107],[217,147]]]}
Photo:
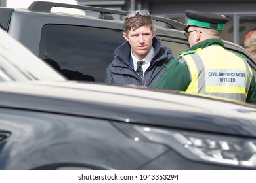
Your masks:
{"label": "clear headlight of the blurred dark foreground car", "polygon": [[194,161],[256,167],[256,140],[244,137],[115,123],[135,141],[164,144]]}

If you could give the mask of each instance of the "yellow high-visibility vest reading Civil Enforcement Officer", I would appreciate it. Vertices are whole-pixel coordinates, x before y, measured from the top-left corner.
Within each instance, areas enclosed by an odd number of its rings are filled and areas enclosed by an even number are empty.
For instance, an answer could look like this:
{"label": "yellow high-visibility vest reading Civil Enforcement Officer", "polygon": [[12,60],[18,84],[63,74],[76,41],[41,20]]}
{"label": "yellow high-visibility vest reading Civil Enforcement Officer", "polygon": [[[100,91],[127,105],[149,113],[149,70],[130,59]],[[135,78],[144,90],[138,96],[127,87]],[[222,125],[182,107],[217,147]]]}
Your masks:
{"label": "yellow high-visibility vest reading Civil Enforcement Officer", "polygon": [[198,49],[182,58],[191,77],[187,93],[246,101],[253,73],[245,59],[218,45]]}

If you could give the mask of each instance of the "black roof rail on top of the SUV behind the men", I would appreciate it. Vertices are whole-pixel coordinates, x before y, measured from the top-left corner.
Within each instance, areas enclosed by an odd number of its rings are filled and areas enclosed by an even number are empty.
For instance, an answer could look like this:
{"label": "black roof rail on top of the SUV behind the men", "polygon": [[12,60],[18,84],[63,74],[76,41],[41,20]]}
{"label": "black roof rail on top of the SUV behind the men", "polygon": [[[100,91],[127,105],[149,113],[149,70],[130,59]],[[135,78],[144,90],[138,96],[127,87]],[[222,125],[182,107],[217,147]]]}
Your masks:
{"label": "black roof rail on top of the SUV behind the men", "polygon": [[[51,8],[53,7],[62,7],[62,8],[75,8],[79,10],[90,10],[95,12],[100,12],[100,19],[108,19],[108,20],[114,20],[112,14],[118,14],[118,15],[127,15],[127,11],[123,10],[113,10],[108,8],[100,8],[100,7],[91,7],[91,6],[85,6],[85,5],[72,5],[72,4],[66,4],[66,3],[55,3],[55,2],[47,2],[47,1],[34,1],[30,7],[28,7],[28,10],[33,12],[51,12]],[[171,26],[173,29],[182,29],[186,27],[185,24],[182,24],[181,22],[177,22],[176,20],[171,20],[169,18],[164,18],[160,16],[151,16],[153,20],[163,22],[169,26]]]}

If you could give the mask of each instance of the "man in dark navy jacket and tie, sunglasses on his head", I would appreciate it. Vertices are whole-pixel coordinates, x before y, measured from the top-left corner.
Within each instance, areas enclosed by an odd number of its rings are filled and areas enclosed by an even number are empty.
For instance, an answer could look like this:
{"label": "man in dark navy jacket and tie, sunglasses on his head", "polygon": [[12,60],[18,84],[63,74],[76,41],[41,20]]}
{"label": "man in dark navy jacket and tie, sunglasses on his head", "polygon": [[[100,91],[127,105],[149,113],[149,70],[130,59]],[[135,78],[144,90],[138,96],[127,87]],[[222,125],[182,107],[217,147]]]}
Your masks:
{"label": "man in dark navy jacket and tie, sunglasses on his head", "polygon": [[105,82],[153,86],[173,59],[171,50],[154,36],[154,23],[146,10],[129,12],[123,28],[126,41],[114,51]]}

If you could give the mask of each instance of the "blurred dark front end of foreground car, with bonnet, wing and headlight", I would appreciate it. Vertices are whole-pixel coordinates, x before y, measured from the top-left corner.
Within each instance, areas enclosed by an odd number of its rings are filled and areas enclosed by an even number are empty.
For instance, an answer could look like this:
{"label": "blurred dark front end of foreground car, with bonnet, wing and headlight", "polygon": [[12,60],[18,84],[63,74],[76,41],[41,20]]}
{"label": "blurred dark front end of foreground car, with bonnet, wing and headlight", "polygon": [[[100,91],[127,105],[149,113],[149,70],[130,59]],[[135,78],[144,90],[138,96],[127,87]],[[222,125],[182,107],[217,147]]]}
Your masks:
{"label": "blurred dark front end of foreground car, with bonnet, wing and headlight", "polygon": [[256,169],[255,105],[72,81],[0,97],[0,169]]}

